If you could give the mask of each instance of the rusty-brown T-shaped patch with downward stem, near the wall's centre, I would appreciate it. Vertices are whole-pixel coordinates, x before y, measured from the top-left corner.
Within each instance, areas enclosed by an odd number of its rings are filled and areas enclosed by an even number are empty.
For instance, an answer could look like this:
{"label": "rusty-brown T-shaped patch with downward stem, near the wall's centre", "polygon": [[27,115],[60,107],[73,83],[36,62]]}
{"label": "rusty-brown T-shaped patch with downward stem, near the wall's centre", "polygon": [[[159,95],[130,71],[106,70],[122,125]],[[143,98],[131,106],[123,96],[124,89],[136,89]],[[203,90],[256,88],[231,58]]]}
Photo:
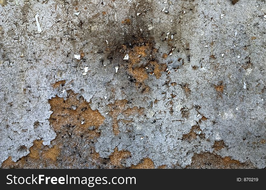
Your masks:
{"label": "rusty-brown T-shaped patch with downward stem, near the wall's centre", "polygon": [[132,107],[130,108],[128,106],[128,100],[117,100],[114,104],[108,105],[112,110],[109,112],[109,114],[113,118],[113,133],[115,135],[118,135],[120,133],[119,126],[118,126],[118,115],[124,114],[125,116],[130,115],[136,115],[136,114],[142,114],[144,108],[138,108],[138,107]]}

